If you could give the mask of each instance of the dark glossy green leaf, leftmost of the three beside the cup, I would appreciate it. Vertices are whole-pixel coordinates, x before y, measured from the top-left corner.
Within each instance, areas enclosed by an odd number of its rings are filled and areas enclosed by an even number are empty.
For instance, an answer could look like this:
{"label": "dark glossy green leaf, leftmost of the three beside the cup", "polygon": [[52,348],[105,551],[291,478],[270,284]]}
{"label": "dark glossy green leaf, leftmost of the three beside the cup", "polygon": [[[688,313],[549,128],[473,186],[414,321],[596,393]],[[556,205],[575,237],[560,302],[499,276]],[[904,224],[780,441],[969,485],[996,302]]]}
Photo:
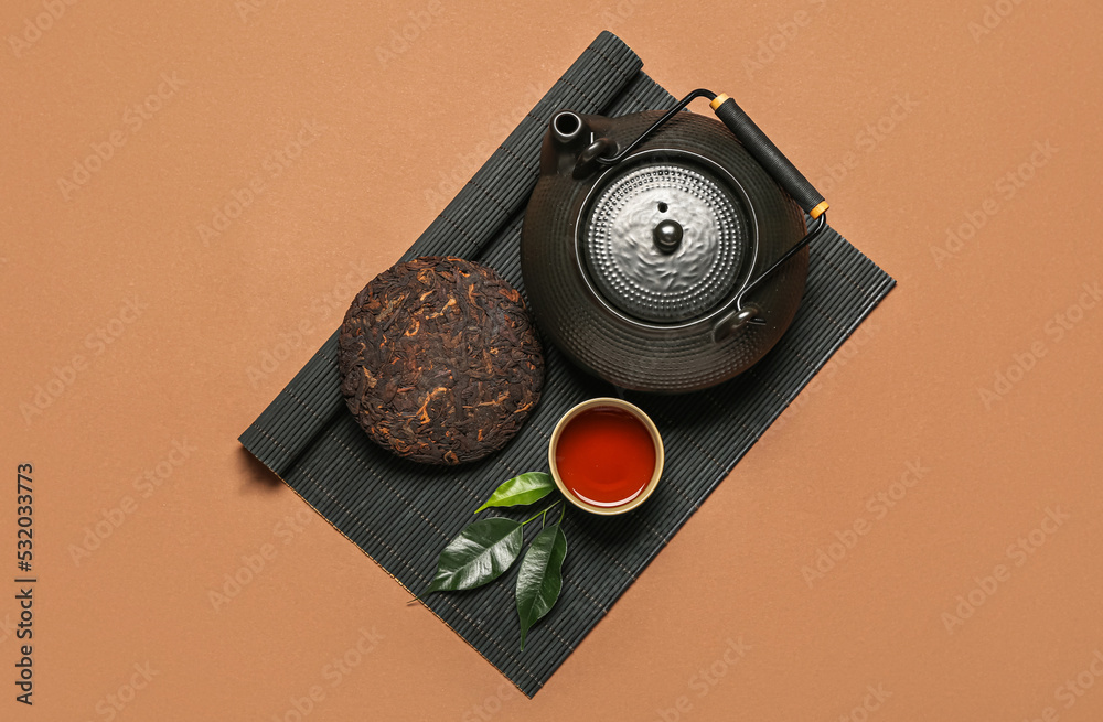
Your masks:
{"label": "dark glossy green leaf, leftmost of the three beside the cup", "polygon": [[422,596],[474,589],[494,581],[513,565],[523,542],[520,521],[495,517],[469,524],[440,552],[437,575]]}

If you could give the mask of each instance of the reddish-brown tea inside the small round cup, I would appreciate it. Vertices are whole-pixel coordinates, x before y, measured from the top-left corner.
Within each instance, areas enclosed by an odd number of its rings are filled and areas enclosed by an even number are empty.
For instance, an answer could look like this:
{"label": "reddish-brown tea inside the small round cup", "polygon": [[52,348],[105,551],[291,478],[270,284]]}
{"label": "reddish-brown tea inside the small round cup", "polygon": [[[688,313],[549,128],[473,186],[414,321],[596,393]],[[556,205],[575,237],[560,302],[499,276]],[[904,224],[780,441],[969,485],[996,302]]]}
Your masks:
{"label": "reddish-brown tea inside the small round cup", "polygon": [[655,474],[651,431],[635,414],[613,406],[593,406],[569,419],[554,454],[567,491],[597,507],[629,504]]}

